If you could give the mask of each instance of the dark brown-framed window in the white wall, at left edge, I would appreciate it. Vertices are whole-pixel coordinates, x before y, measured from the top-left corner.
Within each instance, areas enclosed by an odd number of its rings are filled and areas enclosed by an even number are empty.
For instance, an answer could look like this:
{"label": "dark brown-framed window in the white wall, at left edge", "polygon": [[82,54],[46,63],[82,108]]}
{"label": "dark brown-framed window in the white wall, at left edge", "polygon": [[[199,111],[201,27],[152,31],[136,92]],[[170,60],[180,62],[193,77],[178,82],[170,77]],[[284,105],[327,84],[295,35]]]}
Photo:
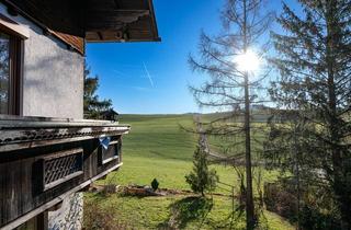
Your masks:
{"label": "dark brown-framed window in the white wall, at left edge", "polygon": [[0,114],[19,115],[21,38],[0,32]]}

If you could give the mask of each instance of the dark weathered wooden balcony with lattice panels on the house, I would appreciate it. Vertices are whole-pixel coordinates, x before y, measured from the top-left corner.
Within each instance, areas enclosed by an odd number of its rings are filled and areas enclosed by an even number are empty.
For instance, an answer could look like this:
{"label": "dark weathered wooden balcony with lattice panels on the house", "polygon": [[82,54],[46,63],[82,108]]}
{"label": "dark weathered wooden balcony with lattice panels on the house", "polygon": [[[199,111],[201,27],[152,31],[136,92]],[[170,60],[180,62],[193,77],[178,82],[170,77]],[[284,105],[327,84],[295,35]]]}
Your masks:
{"label": "dark weathered wooden balcony with lattice panels on the house", "polygon": [[117,170],[129,128],[0,115],[0,228],[12,229]]}

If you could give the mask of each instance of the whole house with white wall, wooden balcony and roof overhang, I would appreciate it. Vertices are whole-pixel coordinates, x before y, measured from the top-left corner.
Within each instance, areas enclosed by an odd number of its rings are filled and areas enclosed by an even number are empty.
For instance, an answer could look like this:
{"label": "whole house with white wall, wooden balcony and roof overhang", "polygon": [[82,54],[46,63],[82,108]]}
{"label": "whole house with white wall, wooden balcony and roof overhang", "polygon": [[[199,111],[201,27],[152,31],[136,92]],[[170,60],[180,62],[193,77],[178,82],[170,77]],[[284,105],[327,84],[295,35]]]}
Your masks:
{"label": "whole house with white wall, wooden balcony and roof overhang", "polygon": [[151,0],[0,1],[0,229],[81,227],[131,128],[83,119],[86,43],[152,41]]}

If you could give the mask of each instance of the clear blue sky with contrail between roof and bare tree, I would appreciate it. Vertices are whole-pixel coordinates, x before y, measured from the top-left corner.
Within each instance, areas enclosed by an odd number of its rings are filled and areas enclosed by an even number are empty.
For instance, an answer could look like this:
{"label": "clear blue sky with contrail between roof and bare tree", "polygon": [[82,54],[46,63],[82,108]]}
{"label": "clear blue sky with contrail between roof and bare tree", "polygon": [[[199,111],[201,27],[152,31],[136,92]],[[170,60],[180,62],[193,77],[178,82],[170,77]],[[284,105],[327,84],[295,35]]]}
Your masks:
{"label": "clear blue sky with contrail between roof and bare tree", "polygon": [[[206,3],[204,3],[206,2]],[[220,30],[223,0],[154,0],[160,43],[88,44],[87,64],[100,77],[99,95],[122,114],[201,111],[188,90],[203,79],[188,65],[203,28]],[[270,1],[279,9],[281,1]],[[274,4],[274,5],[273,5]]]}

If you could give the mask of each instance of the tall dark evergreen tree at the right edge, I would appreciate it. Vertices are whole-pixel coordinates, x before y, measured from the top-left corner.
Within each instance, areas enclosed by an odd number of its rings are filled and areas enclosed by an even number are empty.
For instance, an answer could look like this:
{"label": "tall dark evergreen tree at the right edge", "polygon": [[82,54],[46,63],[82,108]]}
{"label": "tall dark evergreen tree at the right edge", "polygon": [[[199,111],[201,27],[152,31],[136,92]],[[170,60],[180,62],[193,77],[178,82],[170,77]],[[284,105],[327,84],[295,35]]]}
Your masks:
{"label": "tall dark evergreen tree at the right edge", "polygon": [[[281,78],[272,96],[298,112],[304,123],[310,180],[333,198],[343,229],[351,228],[351,1],[299,0],[296,14],[284,4],[273,34]],[[306,158],[307,160],[307,158]],[[321,172],[321,173],[320,173]],[[317,175],[317,176],[316,176]]]}

